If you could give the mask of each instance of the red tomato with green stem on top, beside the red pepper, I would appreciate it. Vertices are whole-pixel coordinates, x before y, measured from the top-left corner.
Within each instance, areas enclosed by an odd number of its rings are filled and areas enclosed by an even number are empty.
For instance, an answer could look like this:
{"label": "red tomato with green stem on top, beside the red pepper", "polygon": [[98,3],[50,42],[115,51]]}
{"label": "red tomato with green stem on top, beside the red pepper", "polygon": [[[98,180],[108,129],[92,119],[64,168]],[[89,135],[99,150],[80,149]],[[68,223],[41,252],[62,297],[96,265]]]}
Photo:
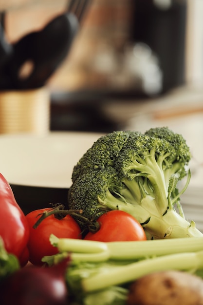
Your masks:
{"label": "red tomato with green stem on top, beside the red pepper", "polygon": [[62,219],[57,219],[55,215],[50,215],[42,220],[37,229],[33,229],[37,219],[41,216],[39,214],[45,210],[50,209],[34,210],[26,215],[30,227],[30,239],[28,241],[29,261],[36,266],[42,265],[41,259],[43,256],[54,255],[58,252],[57,248],[50,244],[49,238],[51,234],[58,238],[82,238],[79,225],[70,215],[66,215]]}

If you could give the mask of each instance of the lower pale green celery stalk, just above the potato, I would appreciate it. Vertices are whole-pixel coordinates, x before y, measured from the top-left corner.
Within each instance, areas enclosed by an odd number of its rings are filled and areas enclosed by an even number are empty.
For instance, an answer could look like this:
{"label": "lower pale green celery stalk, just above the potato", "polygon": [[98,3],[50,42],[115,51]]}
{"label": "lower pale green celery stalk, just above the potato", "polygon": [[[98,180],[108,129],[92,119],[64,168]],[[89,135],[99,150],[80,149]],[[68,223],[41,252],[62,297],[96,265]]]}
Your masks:
{"label": "lower pale green celery stalk, just above the potato", "polygon": [[81,286],[84,292],[92,292],[108,286],[123,285],[156,271],[197,270],[203,268],[203,251],[170,254],[142,260],[125,266],[117,266],[89,278],[83,279]]}

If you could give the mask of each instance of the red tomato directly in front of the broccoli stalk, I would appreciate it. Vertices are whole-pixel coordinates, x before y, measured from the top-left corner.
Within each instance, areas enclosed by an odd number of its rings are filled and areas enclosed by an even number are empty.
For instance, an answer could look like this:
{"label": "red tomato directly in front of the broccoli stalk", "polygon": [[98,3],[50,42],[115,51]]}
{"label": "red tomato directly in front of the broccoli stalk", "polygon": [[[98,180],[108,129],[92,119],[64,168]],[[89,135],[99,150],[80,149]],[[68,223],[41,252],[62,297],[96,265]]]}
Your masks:
{"label": "red tomato directly in front of the broccoli stalk", "polygon": [[84,239],[101,242],[147,240],[140,223],[124,211],[109,211],[101,215],[97,221],[100,229],[96,233],[87,233]]}

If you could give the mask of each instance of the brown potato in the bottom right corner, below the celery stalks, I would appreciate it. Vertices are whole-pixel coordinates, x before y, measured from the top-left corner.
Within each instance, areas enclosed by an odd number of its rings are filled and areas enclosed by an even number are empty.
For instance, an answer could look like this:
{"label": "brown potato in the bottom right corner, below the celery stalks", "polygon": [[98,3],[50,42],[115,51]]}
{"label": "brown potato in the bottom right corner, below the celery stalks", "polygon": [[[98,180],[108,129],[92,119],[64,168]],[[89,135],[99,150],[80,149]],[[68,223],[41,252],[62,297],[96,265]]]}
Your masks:
{"label": "brown potato in the bottom right corner, below the celery stalks", "polygon": [[203,305],[203,280],[182,271],[148,274],[130,285],[128,305]]}

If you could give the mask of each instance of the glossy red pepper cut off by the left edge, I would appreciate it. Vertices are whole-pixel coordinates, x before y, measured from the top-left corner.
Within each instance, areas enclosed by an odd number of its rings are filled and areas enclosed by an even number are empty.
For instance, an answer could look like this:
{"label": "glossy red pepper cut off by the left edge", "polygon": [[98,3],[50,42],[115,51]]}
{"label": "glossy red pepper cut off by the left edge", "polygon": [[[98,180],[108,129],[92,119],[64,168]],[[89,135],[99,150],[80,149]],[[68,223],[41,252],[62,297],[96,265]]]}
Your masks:
{"label": "glossy red pepper cut off by the left edge", "polygon": [[19,257],[29,239],[29,226],[23,211],[18,206],[13,191],[0,174],[0,236],[7,252]]}

